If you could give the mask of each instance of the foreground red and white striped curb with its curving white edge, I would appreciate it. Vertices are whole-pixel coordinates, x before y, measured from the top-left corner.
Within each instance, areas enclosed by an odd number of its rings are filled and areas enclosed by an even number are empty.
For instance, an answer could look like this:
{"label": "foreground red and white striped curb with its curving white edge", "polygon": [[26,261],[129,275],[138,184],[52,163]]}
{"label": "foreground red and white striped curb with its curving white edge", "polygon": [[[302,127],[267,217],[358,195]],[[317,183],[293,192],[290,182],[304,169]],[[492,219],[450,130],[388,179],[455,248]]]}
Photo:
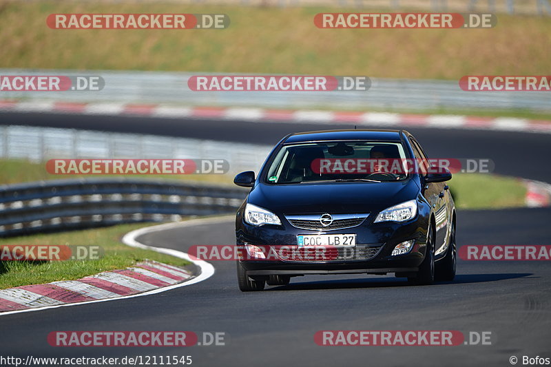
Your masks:
{"label": "foreground red and white striped curb with its curving white edge", "polygon": [[190,258],[182,251],[148,246],[138,242],[136,238],[165,229],[211,224],[220,220],[234,220],[234,218],[233,216],[205,218],[160,224],[137,229],[123,237],[123,243],[128,246],[166,253],[194,263],[199,270],[196,275],[186,269],[147,260],[124,270],[106,271],[79,280],[3,289],[0,290],[0,316],[153,295],[207,280],[214,275],[214,266],[208,262]]}

